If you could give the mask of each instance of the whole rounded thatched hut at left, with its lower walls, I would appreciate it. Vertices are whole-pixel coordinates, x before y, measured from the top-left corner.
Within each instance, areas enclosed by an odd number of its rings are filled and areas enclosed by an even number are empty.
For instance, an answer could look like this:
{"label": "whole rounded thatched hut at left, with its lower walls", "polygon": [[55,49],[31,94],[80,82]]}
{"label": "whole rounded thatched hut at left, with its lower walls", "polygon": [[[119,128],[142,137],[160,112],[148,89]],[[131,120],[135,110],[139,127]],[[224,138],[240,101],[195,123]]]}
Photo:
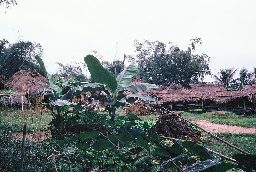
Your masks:
{"label": "whole rounded thatched hut at left, with its lower walls", "polygon": [[[44,76],[40,75],[35,69],[30,68],[16,72],[5,83],[10,90],[19,92],[20,96],[12,96],[18,104],[28,103],[29,93],[31,104],[36,106],[42,100],[42,97],[37,93],[37,89],[45,88],[43,85],[38,84],[38,82],[49,84]],[[25,95],[26,97],[23,97]]]}

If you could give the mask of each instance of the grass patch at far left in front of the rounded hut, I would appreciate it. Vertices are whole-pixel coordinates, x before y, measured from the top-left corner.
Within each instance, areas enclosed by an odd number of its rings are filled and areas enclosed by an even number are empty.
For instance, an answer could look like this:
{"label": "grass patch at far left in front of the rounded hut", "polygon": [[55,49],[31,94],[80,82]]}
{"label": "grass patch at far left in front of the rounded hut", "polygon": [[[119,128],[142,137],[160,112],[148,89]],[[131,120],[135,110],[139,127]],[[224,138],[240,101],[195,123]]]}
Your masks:
{"label": "grass patch at far left in front of the rounded hut", "polygon": [[52,116],[49,113],[41,115],[38,113],[30,113],[29,110],[0,109],[0,130],[8,132],[22,131],[23,124],[27,124],[27,131],[41,131],[47,128],[51,122]]}

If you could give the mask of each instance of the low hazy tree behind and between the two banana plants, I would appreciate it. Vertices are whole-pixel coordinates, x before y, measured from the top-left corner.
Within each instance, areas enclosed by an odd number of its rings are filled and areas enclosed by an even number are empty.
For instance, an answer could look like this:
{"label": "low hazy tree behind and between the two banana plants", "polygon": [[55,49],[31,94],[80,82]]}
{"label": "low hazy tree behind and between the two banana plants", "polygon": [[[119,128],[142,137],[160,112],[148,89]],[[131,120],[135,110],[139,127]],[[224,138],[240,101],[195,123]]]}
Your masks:
{"label": "low hazy tree behind and between the two banana plants", "polygon": [[70,65],[64,65],[62,63],[56,63],[59,66],[59,69],[55,71],[53,76],[62,76],[62,77],[75,77],[76,81],[88,82],[89,79],[82,72],[82,67],[79,63],[75,62]]}

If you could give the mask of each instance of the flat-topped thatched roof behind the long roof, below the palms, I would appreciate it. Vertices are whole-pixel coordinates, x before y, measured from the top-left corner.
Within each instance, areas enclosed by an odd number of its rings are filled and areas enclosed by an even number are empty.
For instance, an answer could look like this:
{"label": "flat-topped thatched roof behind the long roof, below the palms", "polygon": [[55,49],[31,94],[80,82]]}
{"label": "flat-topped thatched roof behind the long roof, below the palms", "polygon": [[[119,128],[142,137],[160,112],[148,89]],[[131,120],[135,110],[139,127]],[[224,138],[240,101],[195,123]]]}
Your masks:
{"label": "flat-topped thatched roof behind the long roof, below the palms", "polygon": [[188,84],[188,90],[194,93],[208,93],[226,89],[221,84]]}

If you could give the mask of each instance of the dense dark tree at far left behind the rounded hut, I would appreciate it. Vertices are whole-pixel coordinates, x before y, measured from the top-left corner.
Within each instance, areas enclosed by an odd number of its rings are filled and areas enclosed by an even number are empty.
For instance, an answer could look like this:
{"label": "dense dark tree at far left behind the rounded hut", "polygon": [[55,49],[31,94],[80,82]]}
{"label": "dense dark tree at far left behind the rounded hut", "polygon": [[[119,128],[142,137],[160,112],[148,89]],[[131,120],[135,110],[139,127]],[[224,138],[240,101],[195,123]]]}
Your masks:
{"label": "dense dark tree at far left behind the rounded hut", "polygon": [[34,57],[35,55],[42,56],[43,52],[43,47],[35,42],[19,41],[10,44],[0,56],[0,66],[4,69],[0,71],[0,75],[9,78],[15,72],[27,68],[35,68],[42,75],[43,71]]}

